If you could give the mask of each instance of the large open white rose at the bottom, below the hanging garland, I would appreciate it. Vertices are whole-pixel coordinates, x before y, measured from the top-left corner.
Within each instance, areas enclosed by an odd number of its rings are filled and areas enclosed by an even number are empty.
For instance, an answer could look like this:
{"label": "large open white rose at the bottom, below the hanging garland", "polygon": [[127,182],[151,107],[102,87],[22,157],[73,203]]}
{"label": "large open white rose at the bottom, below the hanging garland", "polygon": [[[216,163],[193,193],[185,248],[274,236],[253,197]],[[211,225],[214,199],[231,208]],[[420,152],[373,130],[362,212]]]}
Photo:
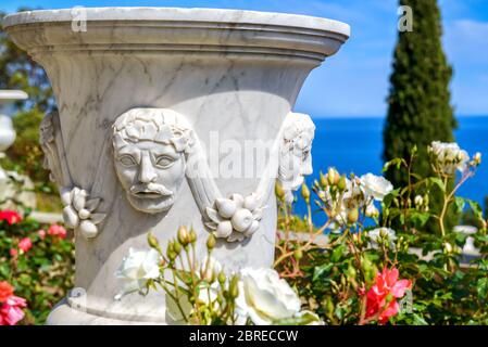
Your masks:
{"label": "large open white rose at the bottom, below the hanging garland", "polygon": [[256,325],[270,325],[300,311],[300,299],[272,269],[242,269],[236,312]]}

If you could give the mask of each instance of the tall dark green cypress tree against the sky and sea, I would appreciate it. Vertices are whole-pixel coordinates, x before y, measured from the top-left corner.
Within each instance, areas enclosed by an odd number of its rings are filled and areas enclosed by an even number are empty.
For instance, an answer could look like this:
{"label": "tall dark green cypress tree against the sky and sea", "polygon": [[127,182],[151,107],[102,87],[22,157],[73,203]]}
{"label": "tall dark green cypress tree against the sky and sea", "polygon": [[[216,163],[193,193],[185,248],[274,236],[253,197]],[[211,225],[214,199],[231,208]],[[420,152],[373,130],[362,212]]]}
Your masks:
{"label": "tall dark green cypress tree against the sky and sea", "polygon": [[[456,121],[450,104],[452,68],[442,51],[441,16],[437,0],[400,0],[412,9],[412,31],[400,31],[390,76],[388,115],[384,129],[384,159],[409,158],[414,145],[418,155],[415,174],[430,176],[427,146],[431,141],[451,142]],[[395,187],[404,187],[404,172],[390,169],[386,177]],[[441,204],[440,192],[431,192],[431,208]],[[448,226],[455,223],[452,214]],[[427,226],[435,231],[436,224]]]}

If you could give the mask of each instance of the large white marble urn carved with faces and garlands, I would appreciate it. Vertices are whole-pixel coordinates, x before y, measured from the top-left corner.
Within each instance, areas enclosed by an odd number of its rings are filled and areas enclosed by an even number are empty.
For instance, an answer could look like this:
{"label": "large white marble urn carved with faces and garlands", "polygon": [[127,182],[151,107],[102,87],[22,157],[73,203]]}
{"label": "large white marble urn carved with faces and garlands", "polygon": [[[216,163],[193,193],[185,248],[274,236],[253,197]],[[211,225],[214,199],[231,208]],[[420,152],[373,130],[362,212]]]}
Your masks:
{"label": "large white marble urn carved with faces and garlands", "polygon": [[312,171],[315,127],[293,104],[347,24],[164,8],[33,11],[3,24],[45,67],[59,107],[41,144],[76,234],[76,290],[48,323],[166,323],[162,293],[114,300],[114,273],[149,231],[165,246],[192,226],[201,257],[214,233],[226,271],[272,266],[276,179],[289,198]]}

